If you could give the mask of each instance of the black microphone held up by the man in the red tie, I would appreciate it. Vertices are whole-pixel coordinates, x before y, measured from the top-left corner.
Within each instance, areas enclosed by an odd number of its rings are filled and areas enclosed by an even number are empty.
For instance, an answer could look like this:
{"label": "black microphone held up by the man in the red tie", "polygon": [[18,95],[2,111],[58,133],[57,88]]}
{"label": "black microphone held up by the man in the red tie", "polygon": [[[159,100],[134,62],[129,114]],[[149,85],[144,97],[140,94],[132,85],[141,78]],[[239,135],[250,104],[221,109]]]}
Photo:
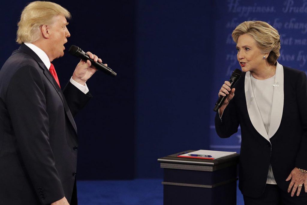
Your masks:
{"label": "black microphone held up by the man in the red tie", "polygon": [[83,61],[87,61],[87,60],[91,61],[91,65],[93,67],[95,67],[98,70],[101,70],[104,73],[107,73],[113,77],[117,75],[111,68],[109,68],[108,66],[105,66],[103,63],[95,62],[93,59],[89,57],[89,55],[87,55],[87,53],[85,53],[78,46],[71,45],[68,50],[68,53],[72,54],[73,56],[81,58],[81,60]]}

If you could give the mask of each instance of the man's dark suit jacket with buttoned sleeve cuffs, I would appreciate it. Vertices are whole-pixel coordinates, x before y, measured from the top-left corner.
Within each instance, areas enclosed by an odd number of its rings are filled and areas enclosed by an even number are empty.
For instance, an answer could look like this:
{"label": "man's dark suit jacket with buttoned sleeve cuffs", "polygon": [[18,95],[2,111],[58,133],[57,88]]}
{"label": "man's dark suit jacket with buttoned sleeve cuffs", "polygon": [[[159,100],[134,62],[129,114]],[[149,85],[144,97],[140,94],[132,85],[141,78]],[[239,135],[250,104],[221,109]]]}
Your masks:
{"label": "man's dark suit jacket with buttoned sleeve cuffs", "polygon": [[28,46],[0,70],[0,203],[70,203],[76,177],[73,116],[91,98],[70,82],[61,91]]}

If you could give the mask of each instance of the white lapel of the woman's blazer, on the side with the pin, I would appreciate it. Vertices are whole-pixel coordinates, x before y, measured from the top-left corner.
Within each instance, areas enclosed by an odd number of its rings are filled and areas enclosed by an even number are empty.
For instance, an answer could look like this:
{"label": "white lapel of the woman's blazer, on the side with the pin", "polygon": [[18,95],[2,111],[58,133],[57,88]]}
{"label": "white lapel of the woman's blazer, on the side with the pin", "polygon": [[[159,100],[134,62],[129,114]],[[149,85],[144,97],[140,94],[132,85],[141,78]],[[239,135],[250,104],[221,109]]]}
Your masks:
{"label": "white lapel of the woman's blazer, on the side with the pin", "polygon": [[279,128],[282,120],[282,111],[284,108],[284,69],[282,65],[277,62],[274,91],[273,91],[273,102],[272,102],[272,113],[270,120],[269,138],[271,138]]}

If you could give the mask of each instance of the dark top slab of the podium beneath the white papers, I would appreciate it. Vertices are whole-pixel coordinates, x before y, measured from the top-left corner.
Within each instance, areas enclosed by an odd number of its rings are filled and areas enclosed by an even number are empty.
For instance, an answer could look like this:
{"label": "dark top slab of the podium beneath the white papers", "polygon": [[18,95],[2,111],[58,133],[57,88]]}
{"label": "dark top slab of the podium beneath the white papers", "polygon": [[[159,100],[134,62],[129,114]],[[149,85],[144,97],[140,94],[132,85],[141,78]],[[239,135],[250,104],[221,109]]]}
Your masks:
{"label": "dark top slab of the podium beneath the white papers", "polygon": [[[183,152],[194,152],[196,150],[186,150]],[[169,163],[169,164],[187,164],[187,165],[200,165],[200,166],[209,166],[215,167],[218,165],[226,165],[226,164],[237,164],[239,161],[239,154],[233,154],[225,157],[221,157],[216,160],[207,160],[207,159],[195,159],[195,158],[185,158],[185,157],[177,157],[178,154],[183,153],[178,152],[169,156],[161,157],[158,159],[160,163]]]}

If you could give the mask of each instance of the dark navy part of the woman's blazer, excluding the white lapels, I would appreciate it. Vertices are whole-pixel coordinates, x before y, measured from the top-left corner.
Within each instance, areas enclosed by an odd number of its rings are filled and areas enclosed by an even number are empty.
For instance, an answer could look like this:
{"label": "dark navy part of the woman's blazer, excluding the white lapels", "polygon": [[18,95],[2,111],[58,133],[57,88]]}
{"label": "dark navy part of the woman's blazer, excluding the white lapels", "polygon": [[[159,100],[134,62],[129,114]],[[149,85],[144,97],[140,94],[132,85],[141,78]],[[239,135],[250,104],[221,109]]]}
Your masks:
{"label": "dark navy part of the woman's blazer, excluding the white lapels", "polygon": [[[283,67],[284,99],[282,113],[279,113],[282,117],[279,127],[269,140],[263,137],[251,122],[254,116],[249,116],[247,109],[245,75],[246,73],[242,73],[235,85],[235,96],[225,108],[222,120],[219,114],[216,114],[216,132],[222,138],[230,137],[238,131],[240,125],[242,141],[239,188],[243,195],[262,195],[270,164],[276,183],[283,191],[287,191],[290,181],[285,180],[293,168],[307,170],[306,74]],[[305,194],[305,191],[301,191],[301,195]]]}

